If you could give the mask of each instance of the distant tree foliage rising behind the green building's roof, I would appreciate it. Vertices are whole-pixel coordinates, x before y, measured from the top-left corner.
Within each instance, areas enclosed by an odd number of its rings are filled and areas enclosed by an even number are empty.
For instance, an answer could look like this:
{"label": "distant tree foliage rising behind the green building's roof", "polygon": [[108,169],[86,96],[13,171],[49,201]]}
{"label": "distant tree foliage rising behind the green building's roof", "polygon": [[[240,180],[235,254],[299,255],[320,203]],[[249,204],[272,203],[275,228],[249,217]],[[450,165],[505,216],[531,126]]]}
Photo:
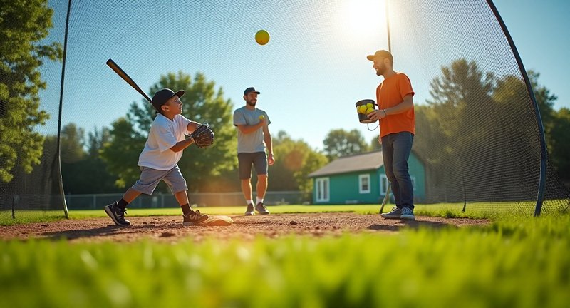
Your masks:
{"label": "distant tree foliage rising behind the green building's roof", "polygon": [[350,131],[342,128],[331,130],[323,140],[323,145],[328,160],[368,151],[368,144],[360,131],[356,129]]}

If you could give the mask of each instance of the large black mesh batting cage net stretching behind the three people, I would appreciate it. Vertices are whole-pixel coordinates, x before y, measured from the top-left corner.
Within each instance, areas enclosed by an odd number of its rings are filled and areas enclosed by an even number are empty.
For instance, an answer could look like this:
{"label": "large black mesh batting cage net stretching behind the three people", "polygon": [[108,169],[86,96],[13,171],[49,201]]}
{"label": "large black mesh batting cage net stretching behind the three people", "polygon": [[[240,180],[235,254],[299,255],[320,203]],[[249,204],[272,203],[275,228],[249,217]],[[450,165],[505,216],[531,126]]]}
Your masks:
{"label": "large black mesh batting cage net stretching behind the three people", "polygon": [[[378,49],[392,51],[415,91],[418,203],[529,215],[541,199],[543,213],[569,208],[542,159],[526,73],[490,2],[0,4],[0,215],[61,216],[73,208],[65,195],[122,193],[138,178],[154,112],[110,58],[151,97],[184,89],[182,114],[214,128],[214,146],[187,148],[179,163],[195,192],[227,187],[237,162],[232,113],[249,86],[269,118],[285,116],[272,121],[275,133],[315,148],[335,128],[377,136],[358,123],[354,103],[375,98],[382,79],[366,55]],[[268,43],[254,39],[260,29]]]}

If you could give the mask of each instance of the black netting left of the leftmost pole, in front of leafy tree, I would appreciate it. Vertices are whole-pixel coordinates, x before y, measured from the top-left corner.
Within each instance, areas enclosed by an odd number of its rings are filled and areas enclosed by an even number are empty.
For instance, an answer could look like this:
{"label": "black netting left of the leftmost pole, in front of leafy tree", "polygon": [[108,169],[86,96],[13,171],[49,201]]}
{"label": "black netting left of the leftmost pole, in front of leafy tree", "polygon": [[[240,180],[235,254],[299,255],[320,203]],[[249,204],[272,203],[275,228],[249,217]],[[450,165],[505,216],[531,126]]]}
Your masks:
{"label": "black netting left of the leftmost pole, in front of leafy tree", "polygon": [[[56,153],[66,9],[62,1],[49,4],[1,1],[0,215],[3,216],[63,215]],[[43,19],[48,16],[51,19]]]}

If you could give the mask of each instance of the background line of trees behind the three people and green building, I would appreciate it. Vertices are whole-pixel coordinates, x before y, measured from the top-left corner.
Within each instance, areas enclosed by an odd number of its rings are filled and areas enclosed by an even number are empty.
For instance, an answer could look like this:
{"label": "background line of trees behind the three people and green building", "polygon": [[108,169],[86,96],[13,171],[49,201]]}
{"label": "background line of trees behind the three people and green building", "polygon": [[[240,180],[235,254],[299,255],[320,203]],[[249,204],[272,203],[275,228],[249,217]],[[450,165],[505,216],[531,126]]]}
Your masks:
{"label": "background line of trees behind the three people and green building", "polygon": [[[529,78],[539,103],[551,161],[564,177],[570,174],[566,155],[570,140],[565,133],[570,129],[570,111],[567,108],[554,110],[556,96],[539,85],[538,73],[529,71]],[[216,132],[215,146],[187,148],[180,160],[190,191],[239,191],[232,101],[225,99],[222,88],[216,88],[214,81],[207,81],[202,73],[197,73],[194,78],[182,72],[167,73],[150,88],[150,93],[160,88],[184,89],[184,116],[209,123]],[[463,163],[458,158],[464,155],[484,155],[505,148],[496,144],[500,140],[494,140],[484,132],[509,130],[514,141],[506,148],[524,146],[525,140],[532,140],[528,135],[532,130],[517,128],[511,123],[520,113],[532,112],[529,106],[513,103],[521,99],[517,93],[524,93],[524,84],[519,78],[496,78],[492,73],[480,71],[475,62],[460,59],[443,67],[442,75],[432,81],[431,88],[432,100],[415,106],[417,137],[414,148],[427,163],[442,170],[432,180],[456,177],[450,174],[454,172],[453,168],[443,166]],[[486,106],[487,113],[477,113],[481,105]],[[83,128],[73,123],[66,125],[61,131],[66,192],[118,193],[132,185],[140,174],[136,162],[154,116],[150,104],[133,102],[128,115],[115,120],[110,128],[95,128],[86,135]],[[494,118],[496,116],[502,120]],[[269,190],[310,191],[311,180],[306,178],[309,173],[338,157],[380,148],[376,134],[366,141],[358,130],[343,128],[333,129],[326,135],[322,151],[311,148],[304,140],[294,140],[284,131],[274,133],[273,139],[278,160],[271,167]],[[498,163],[509,165],[507,161]],[[166,185],[158,189],[167,192]]]}

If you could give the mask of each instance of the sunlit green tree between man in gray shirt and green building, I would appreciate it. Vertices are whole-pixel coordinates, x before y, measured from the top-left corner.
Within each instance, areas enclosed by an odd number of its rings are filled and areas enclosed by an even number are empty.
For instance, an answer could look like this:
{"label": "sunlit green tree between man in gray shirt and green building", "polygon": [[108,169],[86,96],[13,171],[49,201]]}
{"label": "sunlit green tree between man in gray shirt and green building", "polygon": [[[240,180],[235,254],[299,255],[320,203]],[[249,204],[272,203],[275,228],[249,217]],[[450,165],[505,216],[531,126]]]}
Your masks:
{"label": "sunlit green tree between man in gray shirt and green building", "polygon": [[313,185],[309,173],[323,167],[328,159],[312,149],[303,140],[293,140],[284,131],[273,138],[276,161],[269,173],[269,190],[302,190],[309,192]]}

